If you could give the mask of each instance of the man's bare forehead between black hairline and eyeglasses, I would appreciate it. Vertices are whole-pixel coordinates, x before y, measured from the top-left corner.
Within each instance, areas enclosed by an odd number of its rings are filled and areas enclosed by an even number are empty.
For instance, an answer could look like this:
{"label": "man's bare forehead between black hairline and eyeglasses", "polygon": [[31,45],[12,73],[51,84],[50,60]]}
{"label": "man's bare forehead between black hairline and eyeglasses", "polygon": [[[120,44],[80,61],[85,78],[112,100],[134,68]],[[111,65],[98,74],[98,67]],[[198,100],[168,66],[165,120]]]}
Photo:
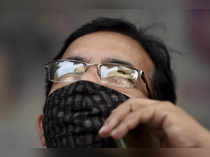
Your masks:
{"label": "man's bare forehead between black hairline and eyeglasses", "polygon": [[147,72],[153,71],[153,63],[141,45],[129,36],[116,32],[95,32],[73,41],[63,58],[79,56],[90,63],[103,63],[107,58],[133,64]]}

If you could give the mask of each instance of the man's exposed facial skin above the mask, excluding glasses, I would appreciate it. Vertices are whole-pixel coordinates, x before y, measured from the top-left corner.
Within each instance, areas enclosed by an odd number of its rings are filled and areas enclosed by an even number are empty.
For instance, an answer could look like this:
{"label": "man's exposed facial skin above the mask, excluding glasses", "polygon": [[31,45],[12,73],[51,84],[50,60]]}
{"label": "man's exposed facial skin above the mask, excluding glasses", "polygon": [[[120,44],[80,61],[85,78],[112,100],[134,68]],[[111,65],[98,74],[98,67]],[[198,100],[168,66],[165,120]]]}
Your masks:
{"label": "man's exposed facial skin above the mask, excluding glasses", "polygon": [[[96,32],[84,35],[76,39],[66,50],[62,59],[82,60],[90,64],[104,64],[121,61],[131,64],[145,72],[150,84],[148,74],[154,71],[152,60],[145,50],[132,38],[115,32]],[[90,67],[81,80],[92,81],[97,84],[115,89],[129,97],[147,97],[147,91],[143,81],[139,78],[134,88],[113,87],[104,84],[97,75],[97,68]],[[54,83],[50,93],[69,83]]]}

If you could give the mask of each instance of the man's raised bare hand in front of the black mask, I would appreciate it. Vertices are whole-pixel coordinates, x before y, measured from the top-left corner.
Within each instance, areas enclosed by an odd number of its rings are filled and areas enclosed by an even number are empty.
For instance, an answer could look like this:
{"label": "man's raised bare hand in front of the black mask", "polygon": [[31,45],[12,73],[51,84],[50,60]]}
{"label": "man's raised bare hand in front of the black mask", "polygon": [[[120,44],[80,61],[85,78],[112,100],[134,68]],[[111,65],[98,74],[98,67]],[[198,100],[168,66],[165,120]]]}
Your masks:
{"label": "man's raised bare hand in front of the black mask", "polygon": [[100,129],[99,135],[121,139],[141,124],[164,132],[164,137],[157,137],[162,139],[159,141],[161,146],[210,147],[208,130],[180,107],[168,101],[143,98],[131,98],[114,109]]}

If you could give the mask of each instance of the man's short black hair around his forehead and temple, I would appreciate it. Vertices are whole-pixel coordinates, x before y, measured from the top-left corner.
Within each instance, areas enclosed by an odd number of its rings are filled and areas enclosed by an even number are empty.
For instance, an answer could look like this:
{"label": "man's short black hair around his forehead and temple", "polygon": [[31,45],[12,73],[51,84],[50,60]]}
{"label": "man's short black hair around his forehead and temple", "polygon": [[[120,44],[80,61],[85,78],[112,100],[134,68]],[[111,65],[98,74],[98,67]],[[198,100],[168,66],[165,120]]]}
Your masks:
{"label": "man's short black hair around his forehead and temple", "polygon": [[[154,36],[147,34],[144,29],[137,29],[134,24],[128,21],[100,17],[82,25],[66,39],[54,60],[61,59],[66,49],[75,39],[98,31],[118,32],[136,40],[144,48],[155,65],[155,72],[151,78],[152,98],[176,103],[175,78],[171,69],[171,59],[166,45]],[[46,78],[46,83],[47,96],[52,87],[52,82]]]}

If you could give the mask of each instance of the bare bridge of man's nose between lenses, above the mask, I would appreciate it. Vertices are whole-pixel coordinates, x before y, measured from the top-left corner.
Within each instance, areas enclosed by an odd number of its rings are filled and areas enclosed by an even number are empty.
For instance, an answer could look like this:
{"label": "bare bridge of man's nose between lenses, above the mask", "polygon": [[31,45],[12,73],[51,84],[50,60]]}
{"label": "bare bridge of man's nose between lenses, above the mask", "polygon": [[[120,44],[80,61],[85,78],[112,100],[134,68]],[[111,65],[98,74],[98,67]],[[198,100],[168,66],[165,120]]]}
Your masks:
{"label": "bare bridge of man's nose between lenses, above the mask", "polygon": [[88,67],[87,71],[82,75],[81,80],[100,84],[100,77],[98,76],[97,66]]}

